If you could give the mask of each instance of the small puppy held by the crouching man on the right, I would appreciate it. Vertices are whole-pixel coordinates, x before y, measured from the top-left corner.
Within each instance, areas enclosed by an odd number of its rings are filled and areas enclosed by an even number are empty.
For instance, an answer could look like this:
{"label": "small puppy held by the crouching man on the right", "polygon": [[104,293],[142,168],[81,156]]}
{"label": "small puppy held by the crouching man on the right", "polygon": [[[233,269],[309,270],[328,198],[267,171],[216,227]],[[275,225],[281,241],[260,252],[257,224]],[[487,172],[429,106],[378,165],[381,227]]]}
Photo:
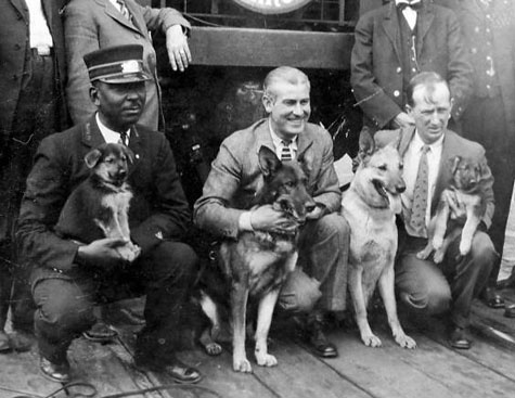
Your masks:
{"label": "small puppy held by the crouching man on the right", "polygon": [[[489,174],[477,161],[455,156],[450,159],[452,180],[441,193],[438,208],[428,227],[427,246],[416,257],[440,264],[447,248],[461,234],[460,255],[471,252],[472,240],[485,215],[485,181]],[[466,217],[465,223],[459,219]],[[446,235],[450,226],[450,232]]]}

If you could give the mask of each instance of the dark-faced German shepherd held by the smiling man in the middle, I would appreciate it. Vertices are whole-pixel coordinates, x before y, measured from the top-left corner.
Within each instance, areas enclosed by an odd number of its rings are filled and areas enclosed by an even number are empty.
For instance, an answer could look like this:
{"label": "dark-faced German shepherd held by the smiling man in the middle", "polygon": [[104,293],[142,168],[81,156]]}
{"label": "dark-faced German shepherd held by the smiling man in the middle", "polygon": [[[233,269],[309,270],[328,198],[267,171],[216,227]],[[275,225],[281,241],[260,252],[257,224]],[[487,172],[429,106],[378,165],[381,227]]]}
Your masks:
{"label": "dark-faced German shepherd held by the smiling man in the middle", "polygon": [[[257,301],[256,361],[261,367],[278,364],[275,357],[268,352],[267,345],[272,313],[279,292],[297,262],[299,227],[316,206],[306,190],[307,178],[300,166],[301,161],[282,163],[266,146],[260,147],[258,156],[263,185],[256,195],[254,208],[272,205],[276,210],[284,211],[291,228],[287,228],[287,232],[242,232],[236,240],[223,241],[220,246],[219,265],[230,290],[233,369],[245,373],[252,372],[245,354],[249,300]],[[206,283],[209,284],[208,281]],[[213,324],[211,336],[220,329],[217,305],[213,296],[201,292],[201,306]],[[208,354],[209,349],[214,355],[219,354],[206,333],[201,337],[201,343]]]}

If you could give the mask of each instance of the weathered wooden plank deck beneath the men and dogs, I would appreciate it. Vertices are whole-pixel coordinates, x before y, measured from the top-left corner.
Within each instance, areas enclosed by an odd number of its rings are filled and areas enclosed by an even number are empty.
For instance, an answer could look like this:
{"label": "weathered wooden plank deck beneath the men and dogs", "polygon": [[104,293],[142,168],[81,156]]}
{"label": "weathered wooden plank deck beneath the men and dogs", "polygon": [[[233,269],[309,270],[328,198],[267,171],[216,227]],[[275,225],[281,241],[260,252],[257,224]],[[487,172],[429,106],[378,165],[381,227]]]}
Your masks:
{"label": "weathered wooden plank deck beneath the men and dogs", "polygon": [[[515,301],[515,292],[505,292]],[[136,397],[224,397],[224,398],[488,398],[515,397],[515,320],[491,310],[479,301],[474,306],[474,346],[471,350],[450,349],[438,320],[423,326],[408,326],[417,342],[415,350],[398,347],[382,317],[373,329],[382,337],[382,348],[364,347],[353,328],[333,328],[330,335],[339,358],[322,360],[313,356],[299,338],[278,330],[270,350],[279,365],[259,368],[253,374],[237,374],[227,350],[208,357],[199,348],[180,357],[204,374],[191,389],[173,389]],[[142,373],[132,365],[133,330],[118,329],[120,338],[107,345],[77,339],[69,352],[74,376],[95,386],[95,397],[106,397],[158,385],[171,384],[166,376]],[[38,373],[36,349],[25,354],[0,355],[0,398],[20,395],[46,397],[60,387]],[[80,377],[79,377],[80,376]],[[215,391],[216,394],[209,393]],[[73,394],[74,390],[69,390]],[[66,397],[59,393],[56,397]]]}

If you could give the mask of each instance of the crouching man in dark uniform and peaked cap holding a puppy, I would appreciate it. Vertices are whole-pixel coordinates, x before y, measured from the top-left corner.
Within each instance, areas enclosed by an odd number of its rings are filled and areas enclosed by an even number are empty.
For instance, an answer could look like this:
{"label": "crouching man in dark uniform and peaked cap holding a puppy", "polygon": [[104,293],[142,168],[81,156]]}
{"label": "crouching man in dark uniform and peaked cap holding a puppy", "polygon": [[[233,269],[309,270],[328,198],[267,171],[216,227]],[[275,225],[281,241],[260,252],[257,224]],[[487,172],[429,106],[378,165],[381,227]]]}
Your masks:
{"label": "crouching man in dark uniform and peaked cap holding a puppy", "polygon": [[[175,357],[181,308],[196,274],[197,257],[181,242],[189,206],[164,134],[137,125],[145,102],[143,48],[98,50],[85,56],[98,112],[89,120],[46,138],[27,178],[16,239],[34,265],[30,275],[37,311],[40,369],[48,378],[69,380],[66,351],[95,321],[92,308],[104,287],[130,283],[146,294],[145,326],[138,335],[140,368],[166,372],[181,383],[199,373]],[[129,224],[141,254],[131,264],[116,247],[123,240],[99,237],[81,244],[55,233],[61,209],[89,169],[85,155],[103,142],[127,143],[134,153],[128,182],[133,192]],[[99,232],[99,236],[103,236]]]}

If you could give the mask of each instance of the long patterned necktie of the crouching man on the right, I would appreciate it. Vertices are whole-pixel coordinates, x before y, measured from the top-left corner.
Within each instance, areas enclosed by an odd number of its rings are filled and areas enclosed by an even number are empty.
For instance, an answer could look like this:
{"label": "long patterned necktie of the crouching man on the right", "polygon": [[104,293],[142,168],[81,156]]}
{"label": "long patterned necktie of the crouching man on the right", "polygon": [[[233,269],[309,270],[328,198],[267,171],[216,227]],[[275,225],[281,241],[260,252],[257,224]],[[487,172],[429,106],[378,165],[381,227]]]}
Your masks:
{"label": "long patterned necktie of the crouching man on the right", "polygon": [[428,145],[422,146],[419,171],[416,174],[415,188],[413,190],[413,203],[411,206],[410,226],[420,236],[427,237],[426,210],[429,190],[429,166],[427,163]]}

